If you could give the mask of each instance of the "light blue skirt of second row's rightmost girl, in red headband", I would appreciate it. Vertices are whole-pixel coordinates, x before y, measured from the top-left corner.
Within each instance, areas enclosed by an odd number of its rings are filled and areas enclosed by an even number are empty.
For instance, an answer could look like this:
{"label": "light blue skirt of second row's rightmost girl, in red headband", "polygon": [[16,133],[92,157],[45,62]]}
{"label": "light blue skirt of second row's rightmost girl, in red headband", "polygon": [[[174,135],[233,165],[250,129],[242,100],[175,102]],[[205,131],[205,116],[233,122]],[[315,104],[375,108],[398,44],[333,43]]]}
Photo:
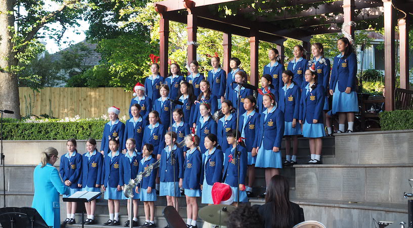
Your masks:
{"label": "light blue skirt of second row's rightmost girl, in red headband", "polygon": [[260,149],[258,149],[255,167],[282,168],[281,150],[279,150],[278,152],[274,152],[272,150],[265,150],[263,144],[264,141],[261,142]]}

